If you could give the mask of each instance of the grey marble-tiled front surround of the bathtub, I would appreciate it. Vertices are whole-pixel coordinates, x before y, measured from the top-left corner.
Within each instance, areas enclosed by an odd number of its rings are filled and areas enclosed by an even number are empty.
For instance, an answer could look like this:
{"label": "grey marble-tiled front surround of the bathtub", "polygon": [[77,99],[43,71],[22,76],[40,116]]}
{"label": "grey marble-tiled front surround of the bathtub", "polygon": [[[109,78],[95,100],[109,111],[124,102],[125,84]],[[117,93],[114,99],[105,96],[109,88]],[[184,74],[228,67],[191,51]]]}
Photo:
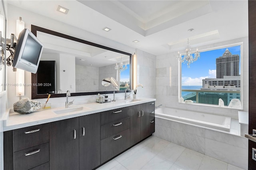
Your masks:
{"label": "grey marble-tiled front surround of the bathtub", "polygon": [[154,136],[190,148],[243,169],[248,167],[248,139],[240,136],[238,120],[232,119],[230,132],[155,115]]}

